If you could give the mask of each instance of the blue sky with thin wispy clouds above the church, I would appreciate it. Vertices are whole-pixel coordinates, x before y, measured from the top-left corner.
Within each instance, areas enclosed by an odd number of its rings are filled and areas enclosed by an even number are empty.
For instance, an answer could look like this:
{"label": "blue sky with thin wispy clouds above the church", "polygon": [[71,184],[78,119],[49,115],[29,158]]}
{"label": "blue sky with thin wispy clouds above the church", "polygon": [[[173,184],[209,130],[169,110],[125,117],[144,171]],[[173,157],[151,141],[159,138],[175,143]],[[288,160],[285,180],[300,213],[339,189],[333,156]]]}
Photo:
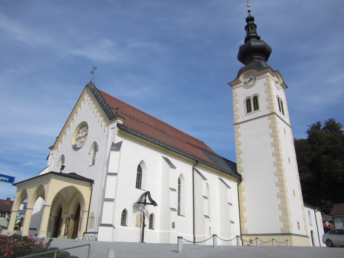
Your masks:
{"label": "blue sky with thin wispy clouds above the church", "polygon": [[[235,161],[232,87],[244,65],[246,0],[0,0],[0,174],[47,165],[84,87],[95,86]],[[250,0],[268,64],[286,89],[294,138],[344,123],[340,0]],[[0,182],[0,198],[16,187]]]}

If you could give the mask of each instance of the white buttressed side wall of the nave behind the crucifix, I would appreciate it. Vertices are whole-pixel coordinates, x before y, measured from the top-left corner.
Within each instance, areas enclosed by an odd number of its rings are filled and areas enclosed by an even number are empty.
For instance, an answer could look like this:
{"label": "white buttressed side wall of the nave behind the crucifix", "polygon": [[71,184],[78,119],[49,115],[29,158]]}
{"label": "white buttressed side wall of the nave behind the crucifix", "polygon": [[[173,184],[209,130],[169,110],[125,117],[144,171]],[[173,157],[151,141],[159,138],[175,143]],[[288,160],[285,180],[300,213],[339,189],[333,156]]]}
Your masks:
{"label": "white buttressed side wall of the nave behind the crucifix", "polygon": [[[119,141],[122,139],[116,139]],[[176,166],[176,169],[170,168],[169,165],[163,160],[162,156],[167,157]],[[115,198],[115,205],[112,224],[115,225],[117,230],[113,232],[114,241],[140,241],[142,229],[135,227],[136,215],[141,213],[141,205],[133,205],[144,191],[150,191],[154,201],[158,206],[148,206],[146,228],[144,241],[147,243],[176,243],[176,236],[182,235],[184,238],[193,239],[193,203],[192,203],[192,165],[185,161],[176,159],[166,153],[153,150],[136,142],[128,139],[123,139],[120,150],[119,169],[116,181],[116,193],[114,196],[107,195],[107,198]],[[136,189],[136,174],[137,165],[144,161],[147,170],[143,169],[146,173],[146,187],[143,190]],[[109,167],[109,170],[111,168]],[[216,210],[219,205],[217,182],[219,175],[210,173],[208,171],[199,169],[201,173],[207,178],[211,191],[211,227],[213,234],[219,232],[223,222],[219,221],[219,214]],[[185,179],[185,212],[184,216],[178,216],[177,212],[171,211],[170,208],[178,208],[178,178],[183,174]],[[232,195],[232,202],[234,209],[233,218],[227,217],[226,220],[235,221],[234,230],[230,230],[226,236],[239,235],[239,212],[238,212],[238,197],[237,197],[237,183],[234,180],[223,178],[228,185],[234,189]],[[195,172],[195,215],[198,219],[196,223],[197,240],[205,240],[209,234],[209,224],[206,225],[203,207],[203,194],[206,194],[206,182]],[[215,183],[216,182],[216,183]],[[108,187],[108,186],[107,186]],[[164,187],[164,188],[163,188]],[[170,187],[176,191],[171,191]],[[204,189],[203,189],[204,188]],[[112,191],[111,191],[112,192]],[[227,200],[228,194],[225,193]],[[226,203],[227,210],[229,211],[228,203]],[[214,206],[214,207],[213,207]],[[123,209],[127,209],[127,226],[120,225],[121,213]],[[105,212],[105,208],[104,208]],[[149,229],[149,214],[154,213],[155,222],[154,230]],[[229,212],[228,212],[229,214]],[[175,223],[175,228],[172,228],[172,222]],[[142,221],[141,221],[142,223]],[[221,237],[220,233],[217,233]],[[231,237],[231,238],[233,238]],[[202,239],[201,239],[202,238]],[[111,238],[110,238],[111,239]],[[228,242],[224,243],[228,244]]]}

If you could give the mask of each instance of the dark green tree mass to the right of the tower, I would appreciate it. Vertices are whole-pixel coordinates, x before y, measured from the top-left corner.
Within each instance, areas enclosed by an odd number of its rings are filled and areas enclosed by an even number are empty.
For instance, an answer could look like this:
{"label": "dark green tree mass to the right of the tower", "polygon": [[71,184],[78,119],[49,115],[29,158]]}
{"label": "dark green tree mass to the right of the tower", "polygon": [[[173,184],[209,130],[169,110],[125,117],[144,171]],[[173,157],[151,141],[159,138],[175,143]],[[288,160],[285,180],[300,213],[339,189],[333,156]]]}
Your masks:
{"label": "dark green tree mass to the right of the tower", "polygon": [[303,200],[324,212],[328,212],[330,203],[344,202],[342,128],[331,118],[309,126],[307,139],[294,139]]}

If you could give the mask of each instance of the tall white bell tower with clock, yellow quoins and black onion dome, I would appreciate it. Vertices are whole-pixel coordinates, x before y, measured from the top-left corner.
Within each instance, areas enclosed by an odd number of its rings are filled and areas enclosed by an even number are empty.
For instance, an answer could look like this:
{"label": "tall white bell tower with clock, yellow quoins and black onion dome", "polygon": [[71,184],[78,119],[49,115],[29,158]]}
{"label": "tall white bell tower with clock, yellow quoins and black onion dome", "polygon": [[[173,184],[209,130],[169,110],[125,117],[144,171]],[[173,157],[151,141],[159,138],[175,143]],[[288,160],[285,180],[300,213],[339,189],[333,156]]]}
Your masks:
{"label": "tall white bell tower with clock, yellow quoins and black onion dome", "polygon": [[[267,63],[271,47],[260,40],[250,5],[242,67],[233,88],[240,226],[245,240],[286,239],[309,246],[288,104],[281,74]],[[245,244],[245,243],[244,243]],[[271,244],[271,242],[270,242]]]}

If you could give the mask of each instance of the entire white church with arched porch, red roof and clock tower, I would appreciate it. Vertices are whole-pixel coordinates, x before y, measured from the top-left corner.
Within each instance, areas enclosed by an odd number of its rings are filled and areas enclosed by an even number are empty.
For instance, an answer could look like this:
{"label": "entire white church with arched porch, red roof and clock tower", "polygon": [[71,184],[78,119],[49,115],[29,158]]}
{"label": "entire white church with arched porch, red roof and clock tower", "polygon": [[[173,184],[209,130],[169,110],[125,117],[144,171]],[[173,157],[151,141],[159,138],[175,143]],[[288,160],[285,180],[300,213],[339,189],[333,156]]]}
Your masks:
{"label": "entire white church with arched porch, red roof and clock tower", "polygon": [[302,200],[287,86],[266,63],[271,47],[250,10],[246,22],[238,54],[245,66],[229,83],[236,163],[90,82],[49,148],[47,167],[14,184],[9,231],[27,199],[23,235],[176,243],[217,234],[239,235],[244,245],[258,237],[323,246],[321,214]]}

